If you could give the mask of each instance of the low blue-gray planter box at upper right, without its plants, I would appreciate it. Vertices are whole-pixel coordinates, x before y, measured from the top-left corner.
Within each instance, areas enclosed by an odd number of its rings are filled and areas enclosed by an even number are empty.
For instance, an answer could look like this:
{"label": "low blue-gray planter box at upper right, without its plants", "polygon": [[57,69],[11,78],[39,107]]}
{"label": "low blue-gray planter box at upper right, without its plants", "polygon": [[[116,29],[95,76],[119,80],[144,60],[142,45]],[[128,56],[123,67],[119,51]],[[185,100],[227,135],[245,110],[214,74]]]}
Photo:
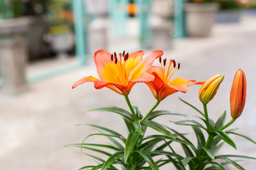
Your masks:
{"label": "low blue-gray planter box at upper right, without its plants", "polygon": [[221,10],[216,15],[217,23],[237,23],[240,21],[240,10]]}

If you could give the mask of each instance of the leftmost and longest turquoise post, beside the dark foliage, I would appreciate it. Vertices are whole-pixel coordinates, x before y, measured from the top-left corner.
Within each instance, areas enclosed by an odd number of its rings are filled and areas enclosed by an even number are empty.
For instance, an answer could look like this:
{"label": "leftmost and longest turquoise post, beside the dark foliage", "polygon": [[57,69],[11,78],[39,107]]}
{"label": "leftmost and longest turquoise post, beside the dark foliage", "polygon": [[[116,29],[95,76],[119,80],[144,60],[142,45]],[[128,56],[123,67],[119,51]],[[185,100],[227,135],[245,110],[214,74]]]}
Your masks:
{"label": "leftmost and longest turquoise post, beside the dark foliage", "polygon": [[76,35],[76,55],[81,65],[86,64],[86,54],[88,54],[88,44],[86,36],[86,22],[84,20],[84,1],[72,0],[74,12],[74,27]]}

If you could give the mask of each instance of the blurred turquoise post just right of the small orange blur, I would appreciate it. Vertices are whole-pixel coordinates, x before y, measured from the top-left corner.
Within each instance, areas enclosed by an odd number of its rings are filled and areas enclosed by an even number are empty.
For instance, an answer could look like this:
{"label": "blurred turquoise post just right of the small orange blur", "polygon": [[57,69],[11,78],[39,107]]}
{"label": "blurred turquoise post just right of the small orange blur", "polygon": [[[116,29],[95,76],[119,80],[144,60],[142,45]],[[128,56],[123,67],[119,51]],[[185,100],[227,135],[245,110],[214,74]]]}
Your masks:
{"label": "blurred turquoise post just right of the small orange blur", "polygon": [[136,0],[138,5],[138,19],[140,20],[140,44],[142,48],[150,46],[151,32],[149,28],[149,17],[152,6],[152,0]]}

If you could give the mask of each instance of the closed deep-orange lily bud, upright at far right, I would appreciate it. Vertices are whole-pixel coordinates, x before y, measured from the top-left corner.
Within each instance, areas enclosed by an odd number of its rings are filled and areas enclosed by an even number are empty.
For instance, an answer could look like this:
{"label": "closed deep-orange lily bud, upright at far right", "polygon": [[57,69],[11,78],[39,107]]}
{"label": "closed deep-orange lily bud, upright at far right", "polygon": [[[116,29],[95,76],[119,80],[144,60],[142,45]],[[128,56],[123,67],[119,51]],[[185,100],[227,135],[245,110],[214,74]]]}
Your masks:
{"label": "closed deep-orange lily bud, upright at far right", "polygon": [[246,99],[246,77],[244,71],[237,69],[230,91],[230,113],[236,119],[240,117]]}

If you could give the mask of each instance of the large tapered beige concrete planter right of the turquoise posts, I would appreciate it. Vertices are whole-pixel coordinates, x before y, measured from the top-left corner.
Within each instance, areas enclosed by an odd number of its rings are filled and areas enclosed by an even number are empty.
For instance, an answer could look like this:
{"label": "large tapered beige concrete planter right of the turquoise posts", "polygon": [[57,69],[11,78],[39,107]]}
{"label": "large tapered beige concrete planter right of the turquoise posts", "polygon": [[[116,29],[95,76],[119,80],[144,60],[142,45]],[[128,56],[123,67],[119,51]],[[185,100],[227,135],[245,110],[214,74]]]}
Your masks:
{"label": "large tapered beige concrete planter right of the turquoise posts", "polygon": [[184,10],[188,36],[206,37],[211,34],[218,3],[186,3]]}

